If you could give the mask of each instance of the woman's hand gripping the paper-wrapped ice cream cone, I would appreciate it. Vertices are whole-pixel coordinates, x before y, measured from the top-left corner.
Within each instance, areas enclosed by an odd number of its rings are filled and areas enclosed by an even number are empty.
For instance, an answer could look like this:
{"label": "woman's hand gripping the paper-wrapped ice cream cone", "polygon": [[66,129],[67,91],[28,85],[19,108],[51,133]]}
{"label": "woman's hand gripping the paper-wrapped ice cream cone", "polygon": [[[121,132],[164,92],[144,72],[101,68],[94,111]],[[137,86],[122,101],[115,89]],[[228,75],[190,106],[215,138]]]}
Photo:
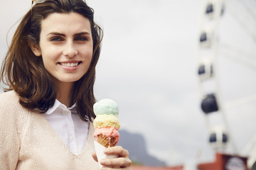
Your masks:
{"label": "woman's hand gripping the paper-wrapped ice cream cone", "polygon": [[[129,159],[129,152],[126,149],[124,149],[120,146],[108,147],[107,149],[105,149],[104,153],[112,154],[112,155],[116,154],[117,158],[102,159],[100,164],[102,164],[103,166],[113,166],[114,167],[113,169],[115,169],[115,170],[117,170],[117,169],[130,170],[131,169],[132,161]],[[97,156],[96,156],[95,152],[92,153],[92,157],[97,162]],[[106,167],[104,167],[103,169],[111,170],[111,168],[106,168]]]}

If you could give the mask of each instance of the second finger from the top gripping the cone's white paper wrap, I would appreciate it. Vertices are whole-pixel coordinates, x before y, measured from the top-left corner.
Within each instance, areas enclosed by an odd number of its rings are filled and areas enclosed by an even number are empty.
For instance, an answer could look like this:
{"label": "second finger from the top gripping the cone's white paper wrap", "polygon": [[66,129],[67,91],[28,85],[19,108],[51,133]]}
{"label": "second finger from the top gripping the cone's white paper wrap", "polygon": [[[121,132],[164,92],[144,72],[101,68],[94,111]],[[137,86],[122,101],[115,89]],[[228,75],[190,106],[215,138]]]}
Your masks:
{"label": "second finger from the top gripping the cone's white paper wrap", "polygon": [[119,157],[116,159],[102,159],[100,161],[100,164],[103,166],[114,166],[114,167],[129,167],[132,164],[132,161],[130,159],[125,159],[123,157]]}

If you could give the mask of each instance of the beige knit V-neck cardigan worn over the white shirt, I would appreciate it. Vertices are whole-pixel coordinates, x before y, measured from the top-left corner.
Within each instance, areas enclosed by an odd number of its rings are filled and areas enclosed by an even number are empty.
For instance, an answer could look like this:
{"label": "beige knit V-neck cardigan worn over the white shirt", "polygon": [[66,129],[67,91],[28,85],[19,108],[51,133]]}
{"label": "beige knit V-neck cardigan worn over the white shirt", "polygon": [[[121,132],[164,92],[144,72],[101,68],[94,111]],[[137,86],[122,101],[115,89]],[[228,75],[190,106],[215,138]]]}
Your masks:
{"label": "beige knit V-neck cardigan worn over the white shirt", "polygon": [[14,91],[0,94],[0,169],[97,170],[92,123],[85,148],[78,155],[68,147],[40,113],[32,113],[18,102]]}

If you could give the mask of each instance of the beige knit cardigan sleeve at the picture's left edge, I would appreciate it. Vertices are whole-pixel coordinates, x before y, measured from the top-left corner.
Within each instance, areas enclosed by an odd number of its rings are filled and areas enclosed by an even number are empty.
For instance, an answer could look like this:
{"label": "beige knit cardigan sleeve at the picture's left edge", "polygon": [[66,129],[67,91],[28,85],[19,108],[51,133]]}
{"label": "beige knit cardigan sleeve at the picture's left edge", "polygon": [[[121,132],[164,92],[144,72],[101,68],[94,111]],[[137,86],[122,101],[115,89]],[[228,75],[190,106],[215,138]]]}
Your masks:
{"label": "beige knit cardigan sleeve at the picture's left edge", "polygon": [[[16,169],[20,140],[18,99],[14,91],[0,94],[0,169]],[[19,106],[21,108],[21,106]]]}

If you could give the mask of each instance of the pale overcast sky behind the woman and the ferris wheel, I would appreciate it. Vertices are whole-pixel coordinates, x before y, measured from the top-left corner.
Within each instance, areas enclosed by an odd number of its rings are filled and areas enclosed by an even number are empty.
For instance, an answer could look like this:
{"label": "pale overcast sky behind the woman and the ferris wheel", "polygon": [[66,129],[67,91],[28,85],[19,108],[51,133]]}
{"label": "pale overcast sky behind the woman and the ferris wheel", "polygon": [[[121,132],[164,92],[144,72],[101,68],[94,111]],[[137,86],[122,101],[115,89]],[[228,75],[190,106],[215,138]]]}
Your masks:
{"label": "pale overcast sky behind the woman and the ferris wheel", "polygon": [[[197,75],[202,3],[87,1],[105,32],[97,64],[96,98],[117,101],[122,129],[144,135],[150,154],[169,165],[214,158],[200,108]],[[7,50],[9,28],[29,8],[31,0],[1,1],[1,60]],[[214,81],[218,80],[219,96],[238,152],[256,135],[255,8],[253,0],[227,0],[218,26]]]}

